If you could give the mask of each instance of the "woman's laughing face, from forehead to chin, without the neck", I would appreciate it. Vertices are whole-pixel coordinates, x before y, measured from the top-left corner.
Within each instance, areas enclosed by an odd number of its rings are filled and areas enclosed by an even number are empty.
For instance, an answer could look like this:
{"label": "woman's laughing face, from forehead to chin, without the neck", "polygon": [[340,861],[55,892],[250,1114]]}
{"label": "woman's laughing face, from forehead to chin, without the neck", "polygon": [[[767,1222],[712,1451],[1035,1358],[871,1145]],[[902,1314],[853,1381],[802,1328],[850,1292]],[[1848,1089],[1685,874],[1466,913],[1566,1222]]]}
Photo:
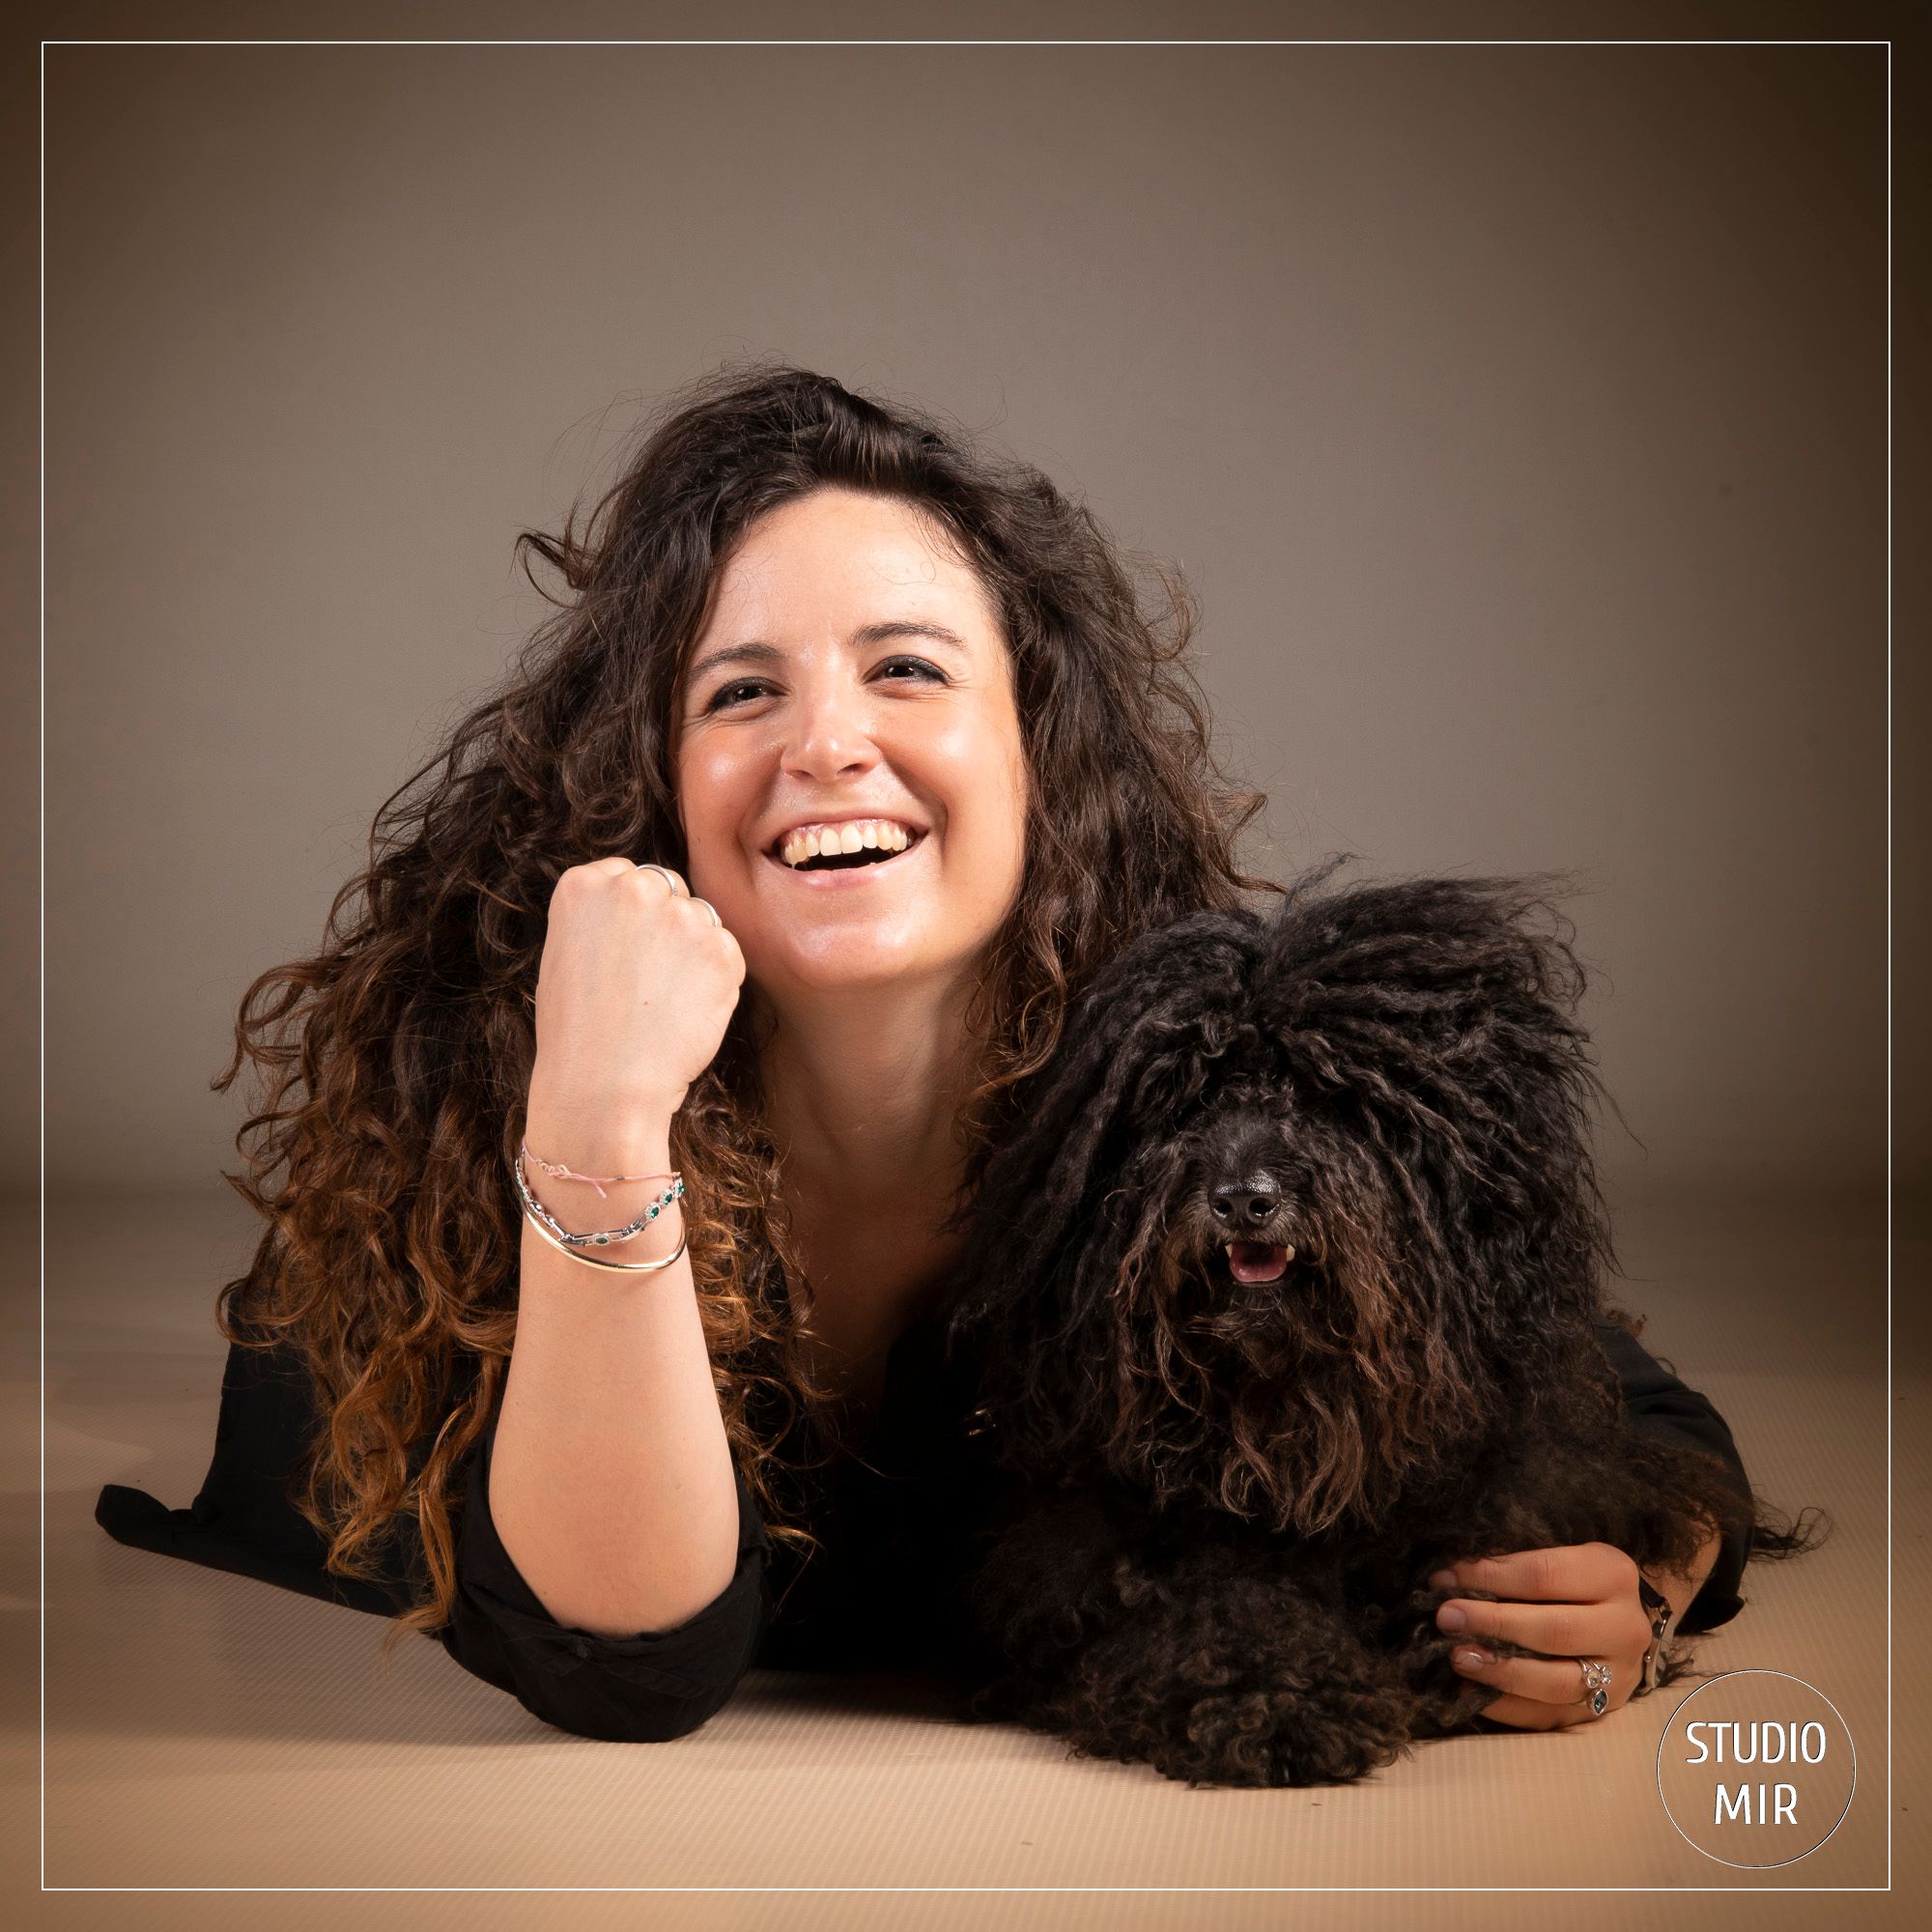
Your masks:
{"label": "woman's laughing face, from forehead to chin, without the neck", "polygon": [[[976,970],[1026,856],[1012,686],[985,587],[906,502],[819,489],[752,526],[676,730],[690,889],[748,980],[782,1005]],[[873,844],[875,821],[912,842],[887,856],[896,833]],[[800,867],[806,831],[871,862]]]}

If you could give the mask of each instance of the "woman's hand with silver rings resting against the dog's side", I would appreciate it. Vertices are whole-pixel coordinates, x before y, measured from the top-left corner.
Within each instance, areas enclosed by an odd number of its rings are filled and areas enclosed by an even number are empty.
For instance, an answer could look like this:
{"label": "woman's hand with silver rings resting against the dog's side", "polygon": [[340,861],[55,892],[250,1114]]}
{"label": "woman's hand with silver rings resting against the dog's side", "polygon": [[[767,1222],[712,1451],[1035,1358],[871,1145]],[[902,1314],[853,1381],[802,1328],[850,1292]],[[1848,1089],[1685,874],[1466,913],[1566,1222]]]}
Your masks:
{"label": "woman's hand with silver rings resting against the dog's side", "polygon": [[[1681,1615],[1702,1588],[1718,1549],[1719,1538],[1712,1536],[1690,1573],[1652,1578],[1673,1613]],[[1636,1565],[1609,1544],[1478,1557],[1437,1571],[1430,1582],[1497,1598],[1451,1598],[1435,1611],[1439,1631],[1466,1638],[1451,1656],[1455,1667],[1503,1692],[1484,1706],[1484,1718],[1522,1731],[1594,1721],[1580,1660],[1609,1665],[1605,1712],[1627,1704],[1642,1681],[1650,1619],[1636,1594]],[[1542,1656],[1499,1654],[1493,1638]]]}

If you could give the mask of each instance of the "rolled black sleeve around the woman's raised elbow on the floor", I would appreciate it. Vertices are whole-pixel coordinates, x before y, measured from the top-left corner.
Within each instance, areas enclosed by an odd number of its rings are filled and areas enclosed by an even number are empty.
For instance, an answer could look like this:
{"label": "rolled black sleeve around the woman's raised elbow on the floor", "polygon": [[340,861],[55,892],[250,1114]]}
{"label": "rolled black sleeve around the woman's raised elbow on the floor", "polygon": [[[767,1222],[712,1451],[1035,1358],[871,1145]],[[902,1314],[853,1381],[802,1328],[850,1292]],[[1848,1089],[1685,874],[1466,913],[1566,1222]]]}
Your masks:
{"label": "rolled black sleeve around the woman's raised elbow on the floor", "polygon": [[580,1737],[663,1743],[696,1731],[752,1667],[765,1625],[769,1540],[744,1470],[738,1567],[694,1617],[670,1631],[597,1636],[556,1623],[497,1538],[489,1513],[493,1412],[477,1441],[456,1530],[456,1600],[442,1648],[526,1710]]}

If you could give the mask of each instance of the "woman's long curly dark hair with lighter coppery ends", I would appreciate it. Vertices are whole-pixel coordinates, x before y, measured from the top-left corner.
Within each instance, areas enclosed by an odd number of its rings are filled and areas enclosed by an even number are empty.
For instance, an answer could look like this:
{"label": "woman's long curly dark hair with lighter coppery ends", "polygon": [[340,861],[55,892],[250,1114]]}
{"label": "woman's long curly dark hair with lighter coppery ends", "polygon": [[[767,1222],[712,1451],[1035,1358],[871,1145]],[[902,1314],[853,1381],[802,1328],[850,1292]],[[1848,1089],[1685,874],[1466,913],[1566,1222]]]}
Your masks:
{"label": "woman's long curly dark hair with lighter coppery ends", "polygon": [[[551,891],[612,854],[684,869],[670,755],[688,651],[752,526],[829,485],[904,500],[947,533],[1016,672],[1026,860],[968,1014],[981,1063],[962,1198],[1109,954],[1180,912],[1279,891],[1236,867],[1265,798],[1209,750],[1179,572],[1122,551],[1037,469],[829,377],[726,365],[668,398],[582,527],[574,506],[560,533],[518,537],[551,616],[384,800],[321,949],[249,985],[211,1082],[226,1092],[243,1061],[259,1082],[236,1134],[245,1173],[224,1179],[267,1223],[216,1321],[307,1364],[325,1426],[290,1501],[328,1571],[373,1578],[406,1553],[413,1602],[384,1656],[448,1621],[456,1474],[516,1341],[510,1157]],[[833,1439],[837,1418],[800,1349],[810,1283],[782,1225],[750,1005],[674,1117],[670,1155],[692,1177],[692,1277],[732,1453],[767,1532],[811,1546],[781,1503],[781,1441],[800,1414]],[[798,1306],[771,1291],[775,1271],[802,1285]]]}

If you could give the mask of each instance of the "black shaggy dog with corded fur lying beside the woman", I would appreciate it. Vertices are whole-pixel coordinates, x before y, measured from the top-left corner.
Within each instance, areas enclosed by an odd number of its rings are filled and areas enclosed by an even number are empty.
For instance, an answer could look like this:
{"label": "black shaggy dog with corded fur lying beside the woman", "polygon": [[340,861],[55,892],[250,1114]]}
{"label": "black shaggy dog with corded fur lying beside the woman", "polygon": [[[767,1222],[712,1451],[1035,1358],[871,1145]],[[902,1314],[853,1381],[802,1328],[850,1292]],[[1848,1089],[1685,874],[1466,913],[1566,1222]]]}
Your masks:
{"label": "black shaggy dog with corded fur lying beside the woman", "polygon": [[1681,1569],[1752,1509],[1625,1424],[1592,1335],[1600,1088],[1544,891],[1337,864],[1126,947],[964,1215],[947,1343],[1024,1478],[968,1575],[972,1712],[1188,1783],[1468,1729],[1497,1692],[1449,1665],[1443,1563]]}

